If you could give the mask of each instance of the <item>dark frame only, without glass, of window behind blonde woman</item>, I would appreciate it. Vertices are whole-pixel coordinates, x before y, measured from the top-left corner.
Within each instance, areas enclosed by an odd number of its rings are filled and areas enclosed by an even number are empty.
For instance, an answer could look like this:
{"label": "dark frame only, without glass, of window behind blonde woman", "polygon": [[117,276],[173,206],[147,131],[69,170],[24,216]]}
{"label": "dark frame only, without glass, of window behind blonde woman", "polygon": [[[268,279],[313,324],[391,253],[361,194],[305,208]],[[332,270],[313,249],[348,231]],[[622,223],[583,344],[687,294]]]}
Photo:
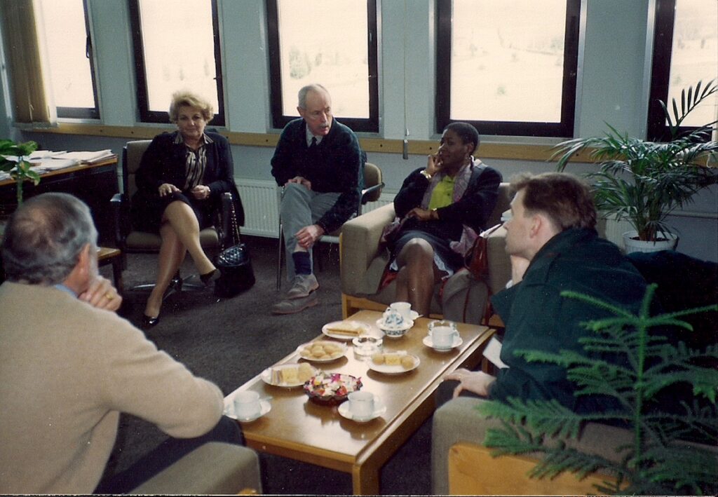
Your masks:
{"label": "dark frame only, without glass, of window behind blonde woman", "polygon": [[[134,49],[135,80],[137,85],[137,111],[143,123],[167,124],[169,111],[150,111],[147,78],[144,65],[144,40],[140,22],[139,0],[128,0],[130,13],[130,29]],[[225,126],[224,79],[222,73],[222,57],[220,50],[220,27],[217,0],[210,0],[212,9],[212,33],[215,45],[215,81],[217,83],[217,109],[211,123],[213,126]]]}

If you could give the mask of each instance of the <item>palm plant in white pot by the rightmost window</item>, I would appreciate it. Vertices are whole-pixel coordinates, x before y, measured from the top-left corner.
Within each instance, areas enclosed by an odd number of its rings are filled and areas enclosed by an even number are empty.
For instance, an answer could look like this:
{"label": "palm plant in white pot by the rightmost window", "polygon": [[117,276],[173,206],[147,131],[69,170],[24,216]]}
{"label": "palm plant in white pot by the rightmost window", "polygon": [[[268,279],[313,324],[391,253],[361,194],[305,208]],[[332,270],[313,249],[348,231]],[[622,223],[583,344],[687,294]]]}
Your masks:
{"label": "palm plant in white pot by the rightmost window", "polygon": [[[608,125],[610,131],[605,136],[556,145],[551,159],[559,157],[559,171],[584,149],[598,162],[599,170],[589,174],[594,180],[596,207],[607,218],[627,220],[633,227],[635,233],[624,235],[630,244],[628,252],[673,248],[677,237],[669,230],[666,217],[691,203],[696,192],[718,182],[715,169],[709,167],[718,151],[718,141],[711,140],[718,121],[681,131],[686,116],[717,92],[716,80],[704,88],[701,82],[695,88],[690,86],[681,92],[680,103],[673,98],[672,113],[661,101],[670,131],[668,141],[634,138]],[[631,244],[633,239],[643,246],[636,249]],[[661,241],[667,241],[668,246],[661,246]]]}

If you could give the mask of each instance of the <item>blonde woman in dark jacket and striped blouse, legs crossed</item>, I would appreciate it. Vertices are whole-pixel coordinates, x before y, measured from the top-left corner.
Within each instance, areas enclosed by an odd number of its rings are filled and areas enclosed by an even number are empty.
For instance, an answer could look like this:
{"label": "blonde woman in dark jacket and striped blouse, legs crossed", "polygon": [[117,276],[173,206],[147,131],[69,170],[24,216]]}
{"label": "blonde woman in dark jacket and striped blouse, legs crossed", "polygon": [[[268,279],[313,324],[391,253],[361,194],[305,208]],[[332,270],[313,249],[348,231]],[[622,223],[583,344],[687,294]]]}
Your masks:
{"label": "blonde woman in dark jacket and striped blouse, legs crossed", "polygon": [[169,120],[177,124],[177,131],[155,136],[137,170],[132,224],[162,237],[157,284],[144,310],[146,327],[159,322],[162,297],[187,252],[203,283],[209,285],[219,277],[200,246],[200,231],[214,224],[223,193],[232,193],[238,223],[244,221],[229,143],[220,134],[205,132],[213,116],[211,104],[203,98],[174,93]]}

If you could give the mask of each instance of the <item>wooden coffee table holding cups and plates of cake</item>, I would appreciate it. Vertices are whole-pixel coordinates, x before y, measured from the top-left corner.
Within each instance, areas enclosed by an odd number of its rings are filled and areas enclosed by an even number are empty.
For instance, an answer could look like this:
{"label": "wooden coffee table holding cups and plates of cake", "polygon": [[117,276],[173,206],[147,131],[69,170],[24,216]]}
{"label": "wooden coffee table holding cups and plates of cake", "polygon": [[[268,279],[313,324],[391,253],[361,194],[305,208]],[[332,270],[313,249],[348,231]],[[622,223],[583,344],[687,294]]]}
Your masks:
{"label": "wooden coffee table holding cups and plates of cake", "polygon": [[[379,317],[381,312],[363,310],[349,319],[370,324],[376,330]],[[419,357],[419,367],[408,373],[387,375],[371,371],[367,361],[355,358],[350,341],[345,357],[330,363],[313,363],[324,371],[359,376],[362,389],[381,398],[387,407],[386,414],[367,423],[345,419],[337,407],[308,401],[301,386],[285,389],[265,384],[260,376],[252,378],[236,391],[254,390],[273,399],[268,414],[242,423],[247,446],[350,473],[355,494],[378,494],[381,466],[432,415],[434,390],[442,376],[456,368],[477,366],[483,346],[494,333],[485,326],[460,323],[457,328],[462,345],[439,353],[421,341],[430,321],[419,318],[404,337],[384,338],[385,351],[406,350]],[[324,335],[318,338],[327,339]],[[277,364],[297,361],[299,354],[295,352]],[[225,404],[231,402],[235,392],[225,397]]]}

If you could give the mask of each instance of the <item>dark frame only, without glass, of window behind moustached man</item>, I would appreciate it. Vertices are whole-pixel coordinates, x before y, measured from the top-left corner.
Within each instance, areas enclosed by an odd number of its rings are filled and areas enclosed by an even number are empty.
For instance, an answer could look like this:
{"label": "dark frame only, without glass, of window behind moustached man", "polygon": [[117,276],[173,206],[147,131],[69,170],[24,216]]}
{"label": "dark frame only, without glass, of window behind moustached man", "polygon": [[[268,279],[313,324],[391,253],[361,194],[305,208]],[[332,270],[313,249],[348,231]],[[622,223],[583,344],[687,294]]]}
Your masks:
{"label": "dark frame only, without glass, of window behind moustached man", "polygon": [[[378,36],[376,0],[367,3],[367,43],[369,65],[369,117],[335,116],[342,124],[353,131],[378,133],[379,131],[379,83],[378,83]],[[271,122],[274,129],[284,126],[298,116],[286,116],[283,113],[284,101],[281,94],[281,62],[279,60],[279,8],[277,0],[266,0],[267,38],[269,42],[269,106]],[[321,83],[321,82],[320,82]]]}

